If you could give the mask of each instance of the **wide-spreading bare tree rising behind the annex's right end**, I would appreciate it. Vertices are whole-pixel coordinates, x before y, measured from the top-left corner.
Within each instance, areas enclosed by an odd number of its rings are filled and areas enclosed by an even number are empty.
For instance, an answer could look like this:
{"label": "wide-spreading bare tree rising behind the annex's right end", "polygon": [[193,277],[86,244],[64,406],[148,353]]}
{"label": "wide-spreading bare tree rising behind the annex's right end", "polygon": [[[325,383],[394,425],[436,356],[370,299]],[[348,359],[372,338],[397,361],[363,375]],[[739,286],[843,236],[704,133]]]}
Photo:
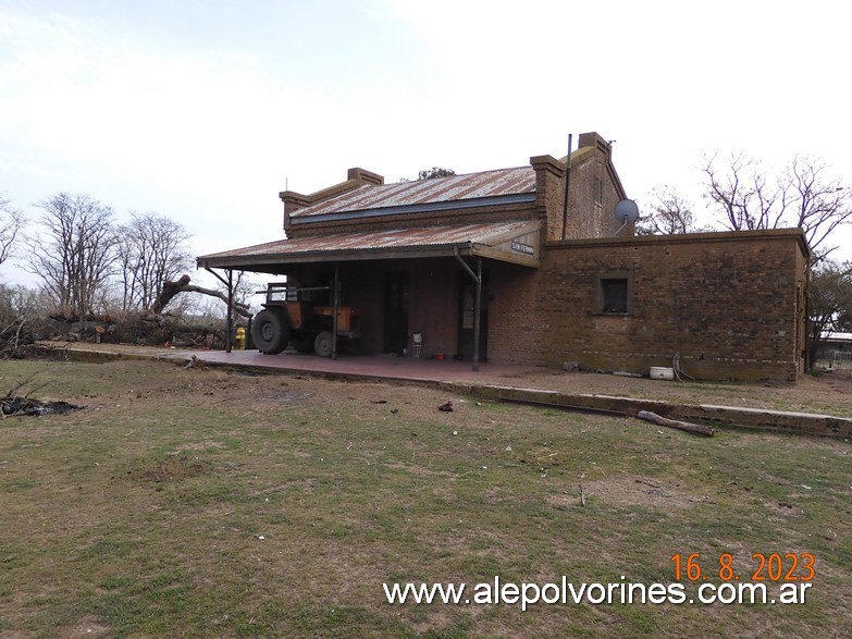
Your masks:
{"label": "wide-spreading bare tree rising behind the annex's right end", "polygon": [[717,155],[704,159],[706,197],[731,231],[798,226],[822,259],[836,248],[826,244],[831,232],[852,222],[852,194],[819,160],[795,156],[775,177],[742,153],[719,164]]}

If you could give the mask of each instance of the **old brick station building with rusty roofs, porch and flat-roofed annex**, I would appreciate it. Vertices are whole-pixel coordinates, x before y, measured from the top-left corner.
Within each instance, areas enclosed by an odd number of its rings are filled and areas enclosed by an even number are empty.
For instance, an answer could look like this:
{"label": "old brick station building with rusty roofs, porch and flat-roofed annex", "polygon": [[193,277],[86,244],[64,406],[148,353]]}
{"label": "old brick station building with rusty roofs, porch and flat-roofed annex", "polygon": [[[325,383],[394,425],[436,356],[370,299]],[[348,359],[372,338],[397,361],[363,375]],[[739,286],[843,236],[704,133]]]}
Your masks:
{"label": "old brick station building with rusty roofs, porch and flat-roofed annex", "polygon": [[571,361],[647,374],[677,356],[696,379],[803,372],[802,231],[634,236],[614,217],[626,194],[596,133],[580,136],[570,162],[536,156],[397,184],[350,169],[335,186],[280,196],[286,238],[198,266],[329,286],[321,304],[337,291],[360,312],[358,354],[410,355],[418,333],[421,357],[474,368]]}

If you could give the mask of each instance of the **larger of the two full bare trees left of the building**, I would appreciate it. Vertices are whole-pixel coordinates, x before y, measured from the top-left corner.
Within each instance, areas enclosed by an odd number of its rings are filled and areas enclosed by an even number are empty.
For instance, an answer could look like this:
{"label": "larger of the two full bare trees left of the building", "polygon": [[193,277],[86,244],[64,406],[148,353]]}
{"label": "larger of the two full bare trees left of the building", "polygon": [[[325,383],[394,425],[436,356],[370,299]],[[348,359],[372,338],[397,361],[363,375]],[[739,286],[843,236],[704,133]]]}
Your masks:
{"label": "larger of the two full bare trees left of the building", "polygon": [[61,312],[85,316],[103,299],[115,261],[112,209],[85,194],[39,202],[44,233],[28,238],[32,272]]}

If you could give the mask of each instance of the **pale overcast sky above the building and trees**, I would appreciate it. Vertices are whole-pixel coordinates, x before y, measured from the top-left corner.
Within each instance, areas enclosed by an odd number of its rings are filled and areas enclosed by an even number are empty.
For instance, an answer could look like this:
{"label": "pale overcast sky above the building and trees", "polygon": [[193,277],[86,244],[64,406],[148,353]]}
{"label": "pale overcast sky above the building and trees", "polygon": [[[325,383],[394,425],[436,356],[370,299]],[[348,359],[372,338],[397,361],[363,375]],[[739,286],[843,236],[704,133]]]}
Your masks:
{"label": "pale overcast sky above the building and trees", "polygon": [[640,209],[696,196],[715,150],[847,182],[850,27],[822,0],[0,0],[0,193],[157,211],[202,255],[283,237],[285,185],[518,167],[586,131]]}

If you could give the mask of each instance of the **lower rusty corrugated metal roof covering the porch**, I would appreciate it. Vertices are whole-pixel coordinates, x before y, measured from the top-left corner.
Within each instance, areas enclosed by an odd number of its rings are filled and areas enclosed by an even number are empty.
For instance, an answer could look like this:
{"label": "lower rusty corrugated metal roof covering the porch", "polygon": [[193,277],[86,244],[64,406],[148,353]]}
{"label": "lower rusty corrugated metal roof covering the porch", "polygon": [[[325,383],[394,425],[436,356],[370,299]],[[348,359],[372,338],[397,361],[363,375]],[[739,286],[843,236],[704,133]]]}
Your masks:
{"label": "lower rusty corrugated metal roof covering the porch", "polygon": [[335,233],[321,237],[296,237],[280,239],[268,244],[247,246],[224,253],[206,255],[199,262],[222,258],[262,258],[275,256],[297,256],[306,253],[330,250],[369,250],[403,247],[437,247],[465,243],[495,246],[521,232],[535,228],[538,221],[520,220],[514,222],[483,222],[478,224],[458,224],[450,226],[428,226],[420,229],[400,229],[395,231],[373,231],[367,233]]}

